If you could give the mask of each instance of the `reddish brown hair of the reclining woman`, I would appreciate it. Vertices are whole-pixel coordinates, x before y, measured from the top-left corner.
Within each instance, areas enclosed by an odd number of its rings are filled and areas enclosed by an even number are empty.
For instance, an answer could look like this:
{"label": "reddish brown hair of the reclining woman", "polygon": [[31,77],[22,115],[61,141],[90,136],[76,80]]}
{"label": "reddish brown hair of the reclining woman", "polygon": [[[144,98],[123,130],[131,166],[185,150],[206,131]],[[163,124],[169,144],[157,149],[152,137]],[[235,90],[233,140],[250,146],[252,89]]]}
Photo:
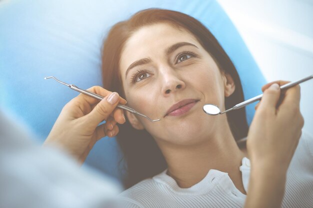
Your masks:
{"label": "reddish brown hair of the reclining woman", "polygon": [[[175,27],[184,28],[193,34],[202,47],[213,57],[220,70],[230,74],[235,83],[235,91],[225,98],[228,109],[243,101],[243,92],[238,73],[211,32],[195,18],[181,12],[166,9],[146,9],[135,13],[128,20],[115,24],[109,31],[102,50],[103,87],[124,96],[119,76],[119,60],[127,39],[140,27],[166,22]],[[246,137],[248,125],[245,109],[227,113],[227,121],[235,138]],[[120,126],[116,136],[126,162],[125,188],[152,177],[165,170],[165,160],[154,139],[145,130],[133,129],[128,122]]]}

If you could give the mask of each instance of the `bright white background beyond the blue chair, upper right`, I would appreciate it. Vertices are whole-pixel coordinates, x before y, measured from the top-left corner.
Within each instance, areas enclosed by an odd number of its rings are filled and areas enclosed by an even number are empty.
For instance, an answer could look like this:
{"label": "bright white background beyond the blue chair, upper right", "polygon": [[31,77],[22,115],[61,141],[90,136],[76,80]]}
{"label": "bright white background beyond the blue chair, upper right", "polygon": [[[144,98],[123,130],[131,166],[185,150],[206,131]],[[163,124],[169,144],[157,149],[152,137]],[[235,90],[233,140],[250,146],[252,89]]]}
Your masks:
{"label": "bright white background beyond the blue chair, upper right", "polygon": [[[217,0],[268,82],[313,74],[313,0]],[[303,130],[313,135],[313,79],[300,84]]]}

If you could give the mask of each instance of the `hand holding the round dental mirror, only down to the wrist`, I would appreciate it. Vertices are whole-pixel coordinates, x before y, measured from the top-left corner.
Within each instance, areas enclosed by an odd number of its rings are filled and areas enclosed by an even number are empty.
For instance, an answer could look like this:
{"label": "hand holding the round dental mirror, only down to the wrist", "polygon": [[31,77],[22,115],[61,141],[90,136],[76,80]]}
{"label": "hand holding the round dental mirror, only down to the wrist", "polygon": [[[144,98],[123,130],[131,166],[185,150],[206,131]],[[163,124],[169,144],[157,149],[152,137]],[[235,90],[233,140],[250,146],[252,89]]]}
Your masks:
{"label": "hand holding the round dental mirror, only down to the wrist", "polygon": [[[275,87],[270,87],[276,83]],[[263,97],[255,106],[248,132],[247,151],[251,162],[286,171],[304,124],[300,113],[300,86],[280,92],[288,81],[274,81],[262,87]]]}

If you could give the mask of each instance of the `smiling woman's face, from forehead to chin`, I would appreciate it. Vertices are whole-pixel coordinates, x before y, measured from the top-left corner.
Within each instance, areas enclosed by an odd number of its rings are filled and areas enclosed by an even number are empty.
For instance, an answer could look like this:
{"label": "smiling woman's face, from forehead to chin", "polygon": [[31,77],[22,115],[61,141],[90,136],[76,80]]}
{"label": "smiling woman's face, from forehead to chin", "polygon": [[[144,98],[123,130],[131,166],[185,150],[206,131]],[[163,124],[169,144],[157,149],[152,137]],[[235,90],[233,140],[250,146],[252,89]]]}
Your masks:
{"label": "smiling woman's face, from forehead to chin", "polygon": [[127,104],[160,119],[127,113],[128,120],[157,141],[190,145],[227,123],[225,115],[208,116],[202,106],[224,109],[228,78],[186,30],[167,23],[141,27],[126,41],[119,66]]}

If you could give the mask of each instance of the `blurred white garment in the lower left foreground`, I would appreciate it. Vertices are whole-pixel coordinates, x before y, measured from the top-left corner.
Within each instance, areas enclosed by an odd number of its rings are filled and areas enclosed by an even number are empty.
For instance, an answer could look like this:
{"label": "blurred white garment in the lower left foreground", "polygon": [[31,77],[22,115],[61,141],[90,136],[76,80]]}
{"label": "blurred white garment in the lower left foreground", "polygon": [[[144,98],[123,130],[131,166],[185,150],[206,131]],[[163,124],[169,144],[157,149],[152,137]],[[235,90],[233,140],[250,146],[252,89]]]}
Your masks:
{"label": "blurred white garment in the lower left foreground", "polygon": [[0,110],[0,208],[103,208],[121,192],[110,178],[27,135]]}

